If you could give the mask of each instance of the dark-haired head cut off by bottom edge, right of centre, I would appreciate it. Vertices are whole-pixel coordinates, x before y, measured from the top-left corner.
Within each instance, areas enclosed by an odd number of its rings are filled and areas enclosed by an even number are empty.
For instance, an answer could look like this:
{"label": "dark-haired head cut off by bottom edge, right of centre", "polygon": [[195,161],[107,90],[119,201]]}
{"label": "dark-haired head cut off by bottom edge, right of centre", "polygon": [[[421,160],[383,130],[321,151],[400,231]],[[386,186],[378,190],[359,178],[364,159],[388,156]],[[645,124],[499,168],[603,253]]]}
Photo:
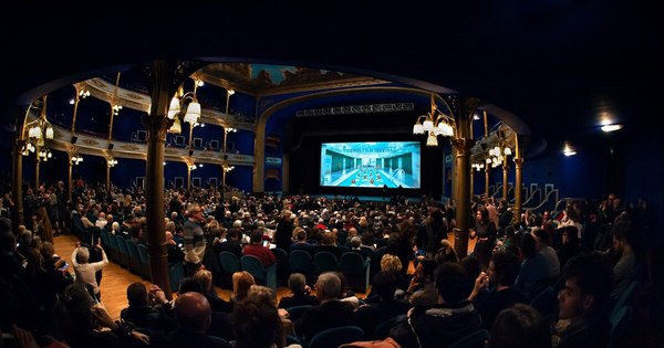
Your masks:
{"label": "dark-haired head cut off by bottom edge, right of centre", "polygon": [[549,348],[551,333],[542,316],[529,305],[502,309],[491,326],[491,348]]}

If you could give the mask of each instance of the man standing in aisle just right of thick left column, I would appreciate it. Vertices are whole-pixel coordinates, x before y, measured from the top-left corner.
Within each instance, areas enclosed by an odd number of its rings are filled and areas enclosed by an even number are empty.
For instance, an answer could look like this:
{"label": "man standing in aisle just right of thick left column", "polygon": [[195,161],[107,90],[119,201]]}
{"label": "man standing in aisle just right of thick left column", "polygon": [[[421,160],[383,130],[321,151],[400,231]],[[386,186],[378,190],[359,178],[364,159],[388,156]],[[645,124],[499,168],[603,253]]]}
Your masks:
{"label": "man standing in aisle just right of thick left column", "polygon": [[203,210],[198,204],[191,204],[187,210],[187,221],[183,226],[185,234],[185,266],[187,276],[193,276],[203,262],[205,254],[205,236],[200,222],[203,222]]}

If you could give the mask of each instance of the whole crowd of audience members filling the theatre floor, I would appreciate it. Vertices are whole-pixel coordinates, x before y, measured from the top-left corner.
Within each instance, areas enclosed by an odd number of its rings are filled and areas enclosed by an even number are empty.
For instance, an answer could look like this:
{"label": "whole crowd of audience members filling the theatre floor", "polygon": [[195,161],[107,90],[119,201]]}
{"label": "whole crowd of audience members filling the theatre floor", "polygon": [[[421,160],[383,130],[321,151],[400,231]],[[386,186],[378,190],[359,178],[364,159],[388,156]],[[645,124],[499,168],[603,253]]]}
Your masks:
{"label": "whole crowd of audience members filling the theatre floor", "polygon": [[[366,338],[400,347],[444,347],[481,328],[491,333],[490,347],[606,347],[613,302],[631,282],[652,276],[641,244],[646,205],[622,204],[613,194],[598,207],[570,202],[561,212],[527,211],[518,219],[506,202],[479,197],[468,217],[475,249],[459,257],[448,241],[456,225],[452,201],[245,196],[224,202],[215,188],[166,190],[166,229],[153,231],[139,189],[81,183],[61,211],[59,188],[38,190],[42,207],[54,202],[42,217],[55,221],[49,231],[43,223],[13,230],[10,213],[0,224],[0,289],[8,299],[0,329],[21,345],[284,347],[292,344],[287,337],[308,342],[354,325]],[[76,220],[81,242],[69,270],[54,255],[52,235],[72,233]],[[112,320],[98,287],[108,263],[102,230],[144,244],[148,233],[164,233],[169,262],[186,265],[177,298],[131,284],[129,307]],[[312,256],[357,253],[375,265],[371,292],[359,298],[340,272],[293,273],[282,280],[292,294],[278,300],[273,289],[238,272],[229,280],[230,300],[221,299],[214,287],[225,280],[218,254],[252,255],[270,266],[277,260],[269,244]],[[550,286],[559,291],[559,310],[530,306]],[[311,307],[291,318],[288,309],[301,305]],[[406,319],[387,337],[372,336],[400,315]]]}

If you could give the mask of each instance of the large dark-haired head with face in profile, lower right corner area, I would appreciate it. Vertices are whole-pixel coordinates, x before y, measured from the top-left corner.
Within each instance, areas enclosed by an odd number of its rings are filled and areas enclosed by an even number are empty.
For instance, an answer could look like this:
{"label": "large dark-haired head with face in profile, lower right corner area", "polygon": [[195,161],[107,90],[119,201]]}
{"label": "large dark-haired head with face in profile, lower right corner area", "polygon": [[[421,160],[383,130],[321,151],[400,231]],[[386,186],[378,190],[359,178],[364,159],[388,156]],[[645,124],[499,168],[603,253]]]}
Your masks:
{"label": "large dark-haired head with face in profile, lower right corner area", "polygon": [[611,303],[613,270],[602,254],[582,254],[568,261],[564,287],[558,293],[559,317],[583,319],[601,313]]}

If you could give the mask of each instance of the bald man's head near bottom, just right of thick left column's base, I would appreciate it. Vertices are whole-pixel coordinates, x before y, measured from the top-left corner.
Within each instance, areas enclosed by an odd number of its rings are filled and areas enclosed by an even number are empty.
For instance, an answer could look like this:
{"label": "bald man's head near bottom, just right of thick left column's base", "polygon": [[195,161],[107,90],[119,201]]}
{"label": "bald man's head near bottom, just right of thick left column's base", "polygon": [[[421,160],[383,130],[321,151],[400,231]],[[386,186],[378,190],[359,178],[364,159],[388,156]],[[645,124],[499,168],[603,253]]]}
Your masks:
{"label": "bald man's head near bottom, just right of thick left column's base", "polygon": [[175,300],[175,318],[181,329],[205,334],[211,323],[210,304],[199,293],[184,293]]}

